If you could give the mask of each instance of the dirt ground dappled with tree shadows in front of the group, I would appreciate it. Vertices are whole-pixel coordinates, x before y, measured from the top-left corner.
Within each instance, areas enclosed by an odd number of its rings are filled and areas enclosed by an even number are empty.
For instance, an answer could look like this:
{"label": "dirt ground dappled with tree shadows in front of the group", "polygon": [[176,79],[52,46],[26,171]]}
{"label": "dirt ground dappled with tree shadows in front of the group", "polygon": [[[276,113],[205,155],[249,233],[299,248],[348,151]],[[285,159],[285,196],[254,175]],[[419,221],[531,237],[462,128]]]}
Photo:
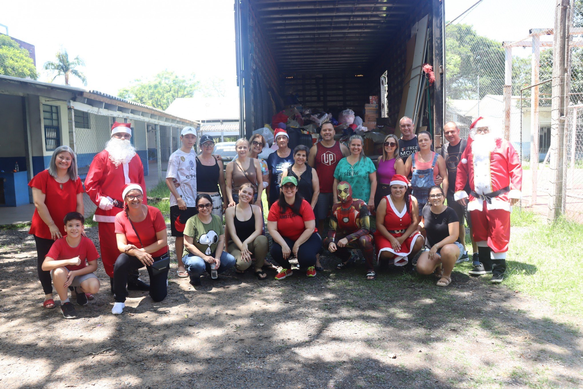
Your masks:
{"label": "dirt ground dappled with tree shadows in front of the group", "polygon": [[[87,234],[97,242],[97,227]],[[367,282],[362,264],[337,271],[324,257],[315,278],[229,271],[195,289],[174,263],[168,297],[131,292],[121,316],[100,265],[101,292],[65,320],[56,294],[41,307],[35,255],[27,229],[0,231],[5,389],[583,386],[581,318],[470,278],[468,265],[448,288],[397,271]]]}

